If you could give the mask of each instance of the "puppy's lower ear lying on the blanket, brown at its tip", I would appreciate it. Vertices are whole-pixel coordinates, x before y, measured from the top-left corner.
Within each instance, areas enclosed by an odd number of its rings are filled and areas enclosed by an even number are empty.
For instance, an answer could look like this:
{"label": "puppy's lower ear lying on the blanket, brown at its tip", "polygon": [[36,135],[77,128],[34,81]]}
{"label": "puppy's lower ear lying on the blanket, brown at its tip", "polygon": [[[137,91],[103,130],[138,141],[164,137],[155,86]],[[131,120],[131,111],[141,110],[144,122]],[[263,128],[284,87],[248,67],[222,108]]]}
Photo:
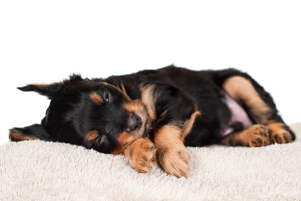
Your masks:
{"label": "puppy's lower ear lying on the blanket, brown at its tip", "polygon": [[45,140],[54,141],[51,136],[46,132],[41,124],[34,124],[23,128],[12,128],[10,130],[11,141],[23,140]]}

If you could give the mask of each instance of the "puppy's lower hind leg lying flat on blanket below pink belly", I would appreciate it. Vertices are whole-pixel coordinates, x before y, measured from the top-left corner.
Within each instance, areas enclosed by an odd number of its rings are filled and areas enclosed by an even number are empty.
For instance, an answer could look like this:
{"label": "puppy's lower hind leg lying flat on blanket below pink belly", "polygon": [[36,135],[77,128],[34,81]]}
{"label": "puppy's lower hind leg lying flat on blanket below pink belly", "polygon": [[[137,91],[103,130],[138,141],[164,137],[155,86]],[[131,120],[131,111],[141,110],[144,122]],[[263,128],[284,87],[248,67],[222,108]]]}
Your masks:
{"label": "puppy's lower hind leg lying flat on blanket below pink belly", "polygon": [[243,131],[227,135],[220,144],[246,147],[266,146],[269,145],[268,129],[263,125],[252,125]]}

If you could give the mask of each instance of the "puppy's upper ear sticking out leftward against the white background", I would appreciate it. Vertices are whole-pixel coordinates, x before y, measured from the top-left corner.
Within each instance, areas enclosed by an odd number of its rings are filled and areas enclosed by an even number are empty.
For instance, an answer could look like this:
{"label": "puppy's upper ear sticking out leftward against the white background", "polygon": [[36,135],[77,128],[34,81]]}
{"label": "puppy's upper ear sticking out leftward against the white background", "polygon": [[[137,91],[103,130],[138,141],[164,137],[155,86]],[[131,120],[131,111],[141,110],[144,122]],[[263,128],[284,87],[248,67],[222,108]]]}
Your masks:
{"label": "puppy's upper ear sticking out leftward against the white background", "polygon": [[52,84],[28,84],[23,87],[17,87],[22,91],[35,91],[41,95],[47,96],[51,99],[56,93],[58,93],[65,84],[83,80],[79,74],[73,74],[69,76],[69,79],[64,80],[63,82],[57,82]]}

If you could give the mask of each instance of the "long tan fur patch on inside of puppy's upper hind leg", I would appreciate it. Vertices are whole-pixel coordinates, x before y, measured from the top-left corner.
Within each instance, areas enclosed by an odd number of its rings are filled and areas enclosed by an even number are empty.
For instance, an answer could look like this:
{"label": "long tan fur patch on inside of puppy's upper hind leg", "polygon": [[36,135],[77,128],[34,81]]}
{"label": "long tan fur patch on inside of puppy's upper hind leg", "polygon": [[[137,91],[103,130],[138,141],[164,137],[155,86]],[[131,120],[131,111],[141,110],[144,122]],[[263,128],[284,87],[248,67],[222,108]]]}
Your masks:
{"label": "long tan fur patch on inside of puppy's upper hind leg", "polygon": [[263,102],[250,80],[233,76],[224,82],[223,88],[237,102],[244,102],[258,124],[269,123],[273,110]]}

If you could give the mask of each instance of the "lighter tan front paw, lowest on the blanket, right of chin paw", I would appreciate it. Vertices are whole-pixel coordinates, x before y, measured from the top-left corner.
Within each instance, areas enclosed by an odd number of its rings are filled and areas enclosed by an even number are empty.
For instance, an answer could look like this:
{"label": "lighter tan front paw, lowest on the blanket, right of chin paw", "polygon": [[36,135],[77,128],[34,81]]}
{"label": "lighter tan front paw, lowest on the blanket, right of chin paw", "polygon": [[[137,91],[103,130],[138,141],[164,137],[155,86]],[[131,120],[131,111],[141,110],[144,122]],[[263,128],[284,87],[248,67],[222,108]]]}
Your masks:
{"label": "lighter tan front paw, lowest on the blanket, right of chin paw", "polygon": [[163,169],[176,177],[189,177],[190,154],[184,144],[162,147],[158,150]]}

